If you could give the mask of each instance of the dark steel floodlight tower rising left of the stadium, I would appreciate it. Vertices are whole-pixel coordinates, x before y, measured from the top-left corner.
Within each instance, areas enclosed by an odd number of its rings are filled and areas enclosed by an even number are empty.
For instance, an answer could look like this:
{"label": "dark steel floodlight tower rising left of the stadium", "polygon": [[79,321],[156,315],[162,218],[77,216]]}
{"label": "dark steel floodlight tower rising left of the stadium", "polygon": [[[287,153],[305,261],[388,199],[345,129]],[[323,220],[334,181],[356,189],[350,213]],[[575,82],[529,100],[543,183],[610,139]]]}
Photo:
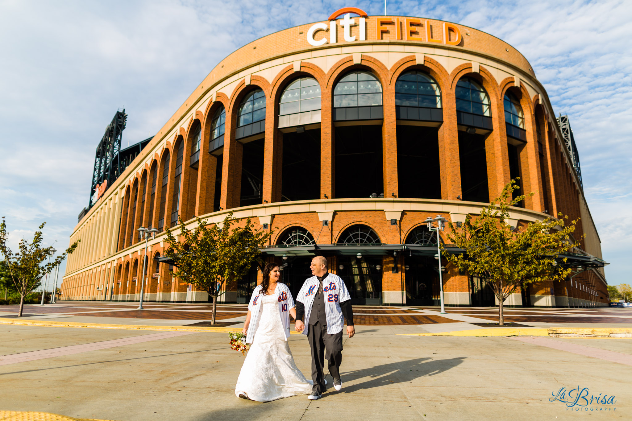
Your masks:
{"label": "dark steel floodlight tower rising left of the stadium", "polygon": [[[127,114],[125,109],[118,109],[112,122],[106,127],[106,133],[103,135],[99,146],[97,147],[97,155],[94,158],[94,172],[92,172],[92,186],[90,186],[90,209],[100,196],[106,191],[107,187],[121,175],[125,167],[121,168],[121,140],[123,139],[123,129],[127,122]],[[100,187],[96,191],[97,187]]]}

